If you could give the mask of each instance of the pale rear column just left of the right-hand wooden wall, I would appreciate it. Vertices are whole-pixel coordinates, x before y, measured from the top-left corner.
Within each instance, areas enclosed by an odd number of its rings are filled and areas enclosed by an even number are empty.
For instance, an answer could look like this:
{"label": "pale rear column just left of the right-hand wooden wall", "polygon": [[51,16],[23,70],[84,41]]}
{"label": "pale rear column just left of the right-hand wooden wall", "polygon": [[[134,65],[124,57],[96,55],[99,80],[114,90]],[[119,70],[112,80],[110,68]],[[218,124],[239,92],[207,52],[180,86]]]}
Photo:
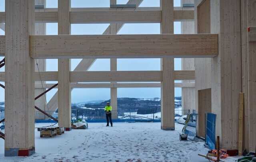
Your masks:
{"label": "pale rear column just left of the right-hand wooden wall", "polygon": [[[183,4],[194,4],[194,0],[181,0]],[[183,10],[194,10],[194,7],[183,7]],[[194,21],[182,21],[181,33],[182,34],[194,34]],[[195,70],[194,58],[181,59],[182,70]],[[183,83],[195,82],[195,80],[182,80]],[[182,109],[189,109],[190,113],[196,109],[196,96],[194,87],[182,88]]]}

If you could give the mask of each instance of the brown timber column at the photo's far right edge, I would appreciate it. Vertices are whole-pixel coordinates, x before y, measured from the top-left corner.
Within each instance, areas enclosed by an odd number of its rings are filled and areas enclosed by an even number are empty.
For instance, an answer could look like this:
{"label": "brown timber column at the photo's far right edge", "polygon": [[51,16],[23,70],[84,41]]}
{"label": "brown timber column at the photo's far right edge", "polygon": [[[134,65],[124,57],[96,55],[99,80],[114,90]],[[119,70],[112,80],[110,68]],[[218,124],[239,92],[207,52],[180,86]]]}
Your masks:
{"label": "brown timber column at the photo's far right edge", "polygon": [[256,146],[256,42],[248,41],[248,27],[256,26],[256,0],[241,0],[242,92],[244,92],[243,150]]}

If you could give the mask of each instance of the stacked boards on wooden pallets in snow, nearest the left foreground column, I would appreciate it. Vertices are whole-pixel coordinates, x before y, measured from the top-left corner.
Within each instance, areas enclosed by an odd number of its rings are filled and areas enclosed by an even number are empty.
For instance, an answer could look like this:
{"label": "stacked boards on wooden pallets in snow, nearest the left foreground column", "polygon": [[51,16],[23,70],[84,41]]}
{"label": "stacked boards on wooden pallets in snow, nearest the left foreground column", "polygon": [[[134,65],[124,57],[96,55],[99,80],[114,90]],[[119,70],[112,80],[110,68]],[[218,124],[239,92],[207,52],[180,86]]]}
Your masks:
{"label": "stacked boards on wooden pallets in snow, nearest the left foreground column", "polygon": [[37,131],[40,131],[40,137],[54,137],[64,133],[64,128],[59,126],[48,126],[40,127]]}

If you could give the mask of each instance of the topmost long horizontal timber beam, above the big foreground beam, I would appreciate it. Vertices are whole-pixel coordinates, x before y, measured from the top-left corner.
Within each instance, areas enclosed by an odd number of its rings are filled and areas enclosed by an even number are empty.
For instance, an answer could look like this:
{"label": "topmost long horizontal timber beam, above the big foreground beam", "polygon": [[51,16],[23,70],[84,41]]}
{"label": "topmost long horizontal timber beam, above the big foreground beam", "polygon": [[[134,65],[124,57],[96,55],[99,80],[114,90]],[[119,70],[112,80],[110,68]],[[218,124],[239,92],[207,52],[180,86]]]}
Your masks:
{"label": "topmost long horizontal timber beam, above the big foreground beam", "polygon": [[[159,7],[139,7],[134,11],[110,10],[110,8],[71,8],[70,23],[160,23],[162,11]],[[58,8],[46,8],[35,12],[36,22],[58,22]],[[174,21],[193,21],[194,11],[174,7]],[[5,12],[0,12],[0,23],[5,22]]]}

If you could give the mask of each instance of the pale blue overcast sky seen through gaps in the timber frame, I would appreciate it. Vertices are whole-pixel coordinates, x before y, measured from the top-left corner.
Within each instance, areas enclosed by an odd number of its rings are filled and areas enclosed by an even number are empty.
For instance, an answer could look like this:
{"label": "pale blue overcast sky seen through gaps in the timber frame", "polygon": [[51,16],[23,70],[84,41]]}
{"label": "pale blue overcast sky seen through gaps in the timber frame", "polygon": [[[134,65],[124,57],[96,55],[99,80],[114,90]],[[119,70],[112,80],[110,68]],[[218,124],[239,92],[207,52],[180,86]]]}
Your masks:
{"label": "pale blue overcast sky seen through gaps in the timber frame", "polygon": [[[117,0],[117,4],[126,4],[128,0]],[[109,0],[71,0],[72,8],[81,7],[109,7]],[[140,7],[159,7],[160,0],[144,0]],[[174,6],[180,6],[180,0],[174,0]],[[46,0],[47,8],[57,8],[58,0]],[[4,0],[0,0],[0,12],[4,11]],[[109,24],[72,24],[72,35],[102,34]],[[160,23],[130,23],[125,24],[118,34],[159,34]],[[174,23],[174,33],[181,33],[180,22]],[[58,23],[46,24],[47,35],[58,35]],[[0,35],[4,31],[0,29]],[[3,57],[0,57],[2,60]],[[71,70],[77,66],[81,59],[71,60]],[[46,70],[57,71],[58,60],[47,59]],[[175,59],[174,69],[181,70],[181,60]],[[108,71],[110,70],[110,59],[97,59],[90,67],[89,71]],[[160,70],[160,59],[118,59],[117,70]],[[4,71],[1,68],[0,71]],[[178,81],[176,81],[178,82]],[[2,83],[3,84],[3,83]],[[57,89],[48,92],[46,98],[49,101]],[[160,88],[118,88],[118,98],[154,98],[160,97]],[[175,96],[181,96],[181,88],[175,88]],[[72,102],[90,100],[110,99],[110,88],[84,88],[72,90]],[[4,90],[0,88],[0,101],[4,101]]]}

